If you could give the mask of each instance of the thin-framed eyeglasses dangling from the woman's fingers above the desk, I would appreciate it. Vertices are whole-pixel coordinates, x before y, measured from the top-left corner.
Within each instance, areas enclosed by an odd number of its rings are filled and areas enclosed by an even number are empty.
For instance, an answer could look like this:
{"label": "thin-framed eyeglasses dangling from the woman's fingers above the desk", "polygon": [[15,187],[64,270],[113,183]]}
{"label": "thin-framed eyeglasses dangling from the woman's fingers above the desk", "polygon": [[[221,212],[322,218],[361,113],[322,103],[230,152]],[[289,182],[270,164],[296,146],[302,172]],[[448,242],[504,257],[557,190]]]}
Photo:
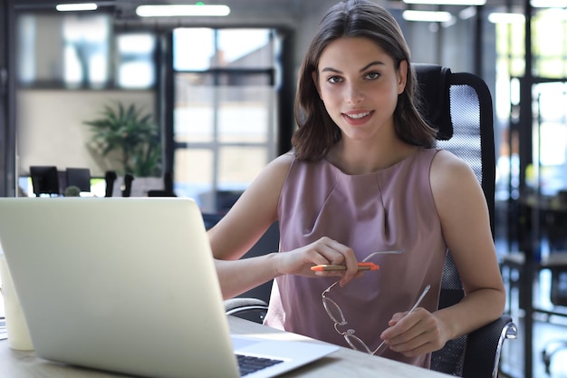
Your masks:
{"label": "thin-framed eyeglasses dangling from the woman's fingers above the desk", "polygon": [[[382,353],[384,353],[384,351],[383,350],[380,351],[380,354],[378,354],[378,351],[382,346],[384,346],[386,341],[382,341],[382,343],[380,343],[380,345],[378,345],[378,347],[372,351],[366,343],[364,343],[362,340],[360,340],[360,338],[357,335],[355,335],[355,331],[353,329],[350,328],[344,332],[341,332],[339,330],[340,326],[347,325],[348,322],[344,318],[344,315],[342,314],[341,307],[337,305],[337,303],[333,301],[331,298],[327,297],[327,294],[329,294],[331,289],[334,286],[336,286],[338,283],[339,281],[332,284],[332,286],[327,287],[327,289],[323,291],[321,295],[322,305],[325,307],[325,311],[327,311],[327,315],[329,315],[331,320],[334,322],[335,331],[337,331],[338,334],[341,334],[342,337],[344,337],[347,343],[351,345],[352,349],[360,352],[366,352],[368,354],[381,355]],[[421,292],[421,295],[418,297],[416,303],[409,309],[407,315],[411,314],[416,308],[418,308],[418,305],[421,303],[421,301],[426,296],[426,294],[428,294],[429,288],[431,288],[431,285],[428,284],[428,286],[425,286],[425,288]]]}

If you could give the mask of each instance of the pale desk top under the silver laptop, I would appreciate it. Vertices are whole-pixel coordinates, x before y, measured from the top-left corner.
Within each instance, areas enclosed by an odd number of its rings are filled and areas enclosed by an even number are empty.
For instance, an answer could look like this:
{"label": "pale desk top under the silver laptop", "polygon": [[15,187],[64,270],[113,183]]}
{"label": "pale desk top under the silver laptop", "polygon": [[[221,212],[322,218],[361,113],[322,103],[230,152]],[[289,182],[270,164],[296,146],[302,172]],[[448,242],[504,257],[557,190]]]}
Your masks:
{"label": "pale desk top under the silver laptop", "polygon": [[[291,333],[285,333],[264,325],[229,316],[229,324],[235,334],[254,334],[273,339],[315,340]],[[283,378],[367,378],[379,374],[381,378],[447,378],[449,375],[421,369],[406,363],[398,363],[381,357],[341,348],[339,352],[320,361],[311,363]],[[6,340],[0,341],[0,377],[6,378],[117,378],[120,374],[102,373],[60,363],[51,363],[37,358],[34,352],[18,352],[10,349]]]}

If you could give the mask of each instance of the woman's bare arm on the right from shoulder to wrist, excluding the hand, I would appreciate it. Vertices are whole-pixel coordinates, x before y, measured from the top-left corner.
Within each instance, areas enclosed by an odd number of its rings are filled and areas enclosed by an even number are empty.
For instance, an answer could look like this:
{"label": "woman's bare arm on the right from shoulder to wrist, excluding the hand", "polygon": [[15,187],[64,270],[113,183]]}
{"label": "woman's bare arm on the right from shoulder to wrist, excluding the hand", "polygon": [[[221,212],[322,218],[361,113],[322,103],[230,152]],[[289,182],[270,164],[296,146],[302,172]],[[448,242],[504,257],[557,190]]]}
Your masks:
{"label": "woman's bare arm on the right from shoulder to wrist, excluding the hand", "polygon": [[485,195],[473,170],[450,152],[439,151],[431,168],[431,187],[443,235],[465,290],[459,304],[436,313],[453,339],[502,315],[505,287]]}

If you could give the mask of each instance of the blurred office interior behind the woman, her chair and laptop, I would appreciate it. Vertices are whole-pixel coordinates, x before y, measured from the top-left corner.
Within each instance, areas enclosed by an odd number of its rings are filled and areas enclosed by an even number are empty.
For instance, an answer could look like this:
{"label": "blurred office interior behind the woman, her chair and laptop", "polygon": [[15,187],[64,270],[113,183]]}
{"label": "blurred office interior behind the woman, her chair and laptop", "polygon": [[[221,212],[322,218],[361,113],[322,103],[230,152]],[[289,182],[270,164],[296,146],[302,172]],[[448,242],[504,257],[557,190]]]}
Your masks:
{"label": "blurred office interior behind the woman, her chair and laptop", "polygon": [[[541,264],[567,252],[567,1],[376,2],[398,19],[414,62],[488,84],[496,246],[521,336],[505,345],[503,374],[567,377],[567,348],[549,374],[541,357],[567,340],[567,274]],[[134,106],[156,126],[157,158],[130,172],[132,191],[163,189],[169,175],[175,195],[222,213],[289,150],[296,72],[335,0],[216,0],[205,3],[226,5],[217,15],[159,17],[139,5],[189,3],[56,8],[75,3],[0,0],[0,196],[33,195],[32,166],[87,168],[103,196],[107,172],[129,172],[116,152],[101,154],[85,122]],[[523,328],[526,316],[534,322]]]}

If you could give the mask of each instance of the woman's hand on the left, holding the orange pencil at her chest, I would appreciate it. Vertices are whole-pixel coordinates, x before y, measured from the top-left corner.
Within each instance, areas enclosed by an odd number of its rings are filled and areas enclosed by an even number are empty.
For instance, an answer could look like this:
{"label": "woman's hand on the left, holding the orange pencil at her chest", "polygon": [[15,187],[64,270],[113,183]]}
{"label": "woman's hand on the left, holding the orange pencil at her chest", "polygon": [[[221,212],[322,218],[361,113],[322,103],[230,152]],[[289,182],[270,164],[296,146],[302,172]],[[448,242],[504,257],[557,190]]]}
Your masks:
{"label": "woman's hand on the left, holding the orange pencil at her chest", "polygon": [[[321,237],[311,244],[277,253],[276,270],[280,275],[299,276],[341,276],[341,286],[345,286],[355,276],[362,273],[358,270],[358,261],[351,247],[347,247],[331,237]],[[322,264],[345,265],[346,270],[313,272],[311,267]]]}

